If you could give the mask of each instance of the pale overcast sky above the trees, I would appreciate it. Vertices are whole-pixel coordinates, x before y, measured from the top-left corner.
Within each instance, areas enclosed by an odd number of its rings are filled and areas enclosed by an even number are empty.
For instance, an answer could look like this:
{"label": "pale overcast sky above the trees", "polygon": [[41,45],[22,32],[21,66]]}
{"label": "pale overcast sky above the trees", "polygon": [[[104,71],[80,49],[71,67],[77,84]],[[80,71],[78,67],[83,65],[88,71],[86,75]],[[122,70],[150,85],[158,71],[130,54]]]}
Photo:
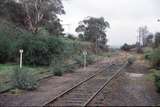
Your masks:
{"label": "pale overcast sky above the trees", "polygon": [[70,24],[65,31],[73,34],[79,21],[87,16],[101,17],[110,23],[109,45],[135,43],[139,26],[147,25],[151,32],[160,31],[160,0],[65,0],[66,14],[62,24]]}

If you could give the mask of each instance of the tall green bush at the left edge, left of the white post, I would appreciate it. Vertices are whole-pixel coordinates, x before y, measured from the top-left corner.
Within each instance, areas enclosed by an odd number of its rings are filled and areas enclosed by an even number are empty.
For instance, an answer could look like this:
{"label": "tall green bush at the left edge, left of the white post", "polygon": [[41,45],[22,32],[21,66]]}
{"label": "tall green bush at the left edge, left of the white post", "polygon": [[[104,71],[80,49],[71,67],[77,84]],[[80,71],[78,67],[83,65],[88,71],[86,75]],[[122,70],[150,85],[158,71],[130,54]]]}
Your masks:
{"label": "tall green bush at the left edge, left of the white post", "polygon": [[[0,22],[0,63],[15,61],[17,42],[16,36],[20,31],[15,26]],[[15,36],[16,35],[16,36]]]}

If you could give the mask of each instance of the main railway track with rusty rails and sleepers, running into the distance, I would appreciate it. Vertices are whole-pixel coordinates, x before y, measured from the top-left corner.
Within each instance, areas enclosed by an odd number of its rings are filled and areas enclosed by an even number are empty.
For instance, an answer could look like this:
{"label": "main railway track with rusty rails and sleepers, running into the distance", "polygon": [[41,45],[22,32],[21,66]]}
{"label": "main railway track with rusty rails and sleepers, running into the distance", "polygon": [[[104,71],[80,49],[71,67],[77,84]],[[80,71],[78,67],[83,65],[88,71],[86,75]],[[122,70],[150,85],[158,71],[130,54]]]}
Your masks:
{"label": "main railway track with rusty rails and sleepers, running into the distance", "polygon": [[43,106],[87,106],[126,65],[127,63],[111,64],[107,67],[108,69],[104,68],[99,73],[46,102]]}

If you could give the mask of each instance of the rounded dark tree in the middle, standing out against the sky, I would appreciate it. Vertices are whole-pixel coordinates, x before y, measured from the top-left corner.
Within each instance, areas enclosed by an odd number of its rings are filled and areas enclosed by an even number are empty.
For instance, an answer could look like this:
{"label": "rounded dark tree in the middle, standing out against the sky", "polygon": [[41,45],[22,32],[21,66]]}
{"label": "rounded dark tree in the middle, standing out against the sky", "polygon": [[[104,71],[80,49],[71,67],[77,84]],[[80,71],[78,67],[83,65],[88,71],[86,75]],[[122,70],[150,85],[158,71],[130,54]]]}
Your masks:
{"label": "rounded dark tree in the middle, standing out against the sky", "polygon": [[107,43],[106,28],[109,27],[109,23],[103,17],[88,17],[79,23],[76,32],[81,39],[84,38],[83,40],[93,42],[96,47],[104,48]]}

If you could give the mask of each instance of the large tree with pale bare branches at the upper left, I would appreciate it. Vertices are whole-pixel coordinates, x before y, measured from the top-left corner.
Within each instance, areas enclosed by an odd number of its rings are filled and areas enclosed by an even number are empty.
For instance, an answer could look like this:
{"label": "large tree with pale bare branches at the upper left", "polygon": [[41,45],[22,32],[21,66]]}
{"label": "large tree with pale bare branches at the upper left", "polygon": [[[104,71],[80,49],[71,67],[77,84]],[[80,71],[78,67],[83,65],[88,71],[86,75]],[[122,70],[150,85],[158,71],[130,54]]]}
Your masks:
{"label": "large tree with pale bare branches at the upper left", "polygon": [[61,0],[5,0],[2,6],[3,17],[33,33],[36,33],[39,27],[53,27],[55,23],[62,31],[57,17],[57,14],[65,13]]}

